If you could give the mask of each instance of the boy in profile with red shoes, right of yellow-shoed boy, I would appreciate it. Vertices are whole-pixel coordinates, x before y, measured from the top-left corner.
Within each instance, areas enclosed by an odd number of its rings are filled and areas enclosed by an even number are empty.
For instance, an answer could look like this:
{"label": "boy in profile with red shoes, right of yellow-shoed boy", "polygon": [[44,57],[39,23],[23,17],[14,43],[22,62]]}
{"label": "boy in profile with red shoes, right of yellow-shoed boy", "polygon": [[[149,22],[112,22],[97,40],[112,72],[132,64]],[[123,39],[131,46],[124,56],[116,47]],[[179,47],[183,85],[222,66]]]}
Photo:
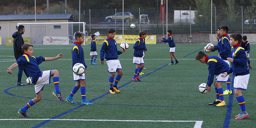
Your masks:
{"label": "boy in profile with red shoes, right of yellow-shoed boy", "polygon": [[147,37],[147,32],[142,30],[139,32],[140,38],[133,45],[133,64],[137,64],[135,68],[135,72],[132,78],[132,81],[139,82],[141,81],[139,78],[140,72],[144,68],[144,59],[143,59],[143,51],[147,51],[145,45],[145,38]]}

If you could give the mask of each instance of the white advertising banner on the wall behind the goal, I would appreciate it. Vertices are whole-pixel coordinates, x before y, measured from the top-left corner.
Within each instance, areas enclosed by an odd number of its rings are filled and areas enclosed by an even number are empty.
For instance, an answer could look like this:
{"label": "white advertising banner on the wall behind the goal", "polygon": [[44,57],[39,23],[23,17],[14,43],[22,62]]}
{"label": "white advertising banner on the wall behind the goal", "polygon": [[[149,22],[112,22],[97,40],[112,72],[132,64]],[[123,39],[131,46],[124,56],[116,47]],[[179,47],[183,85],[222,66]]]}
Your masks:
{"label": "white advertising banner on the wall behind the goal", "polygon": [[44,45],[68,45],[68,37],[44,37]]}

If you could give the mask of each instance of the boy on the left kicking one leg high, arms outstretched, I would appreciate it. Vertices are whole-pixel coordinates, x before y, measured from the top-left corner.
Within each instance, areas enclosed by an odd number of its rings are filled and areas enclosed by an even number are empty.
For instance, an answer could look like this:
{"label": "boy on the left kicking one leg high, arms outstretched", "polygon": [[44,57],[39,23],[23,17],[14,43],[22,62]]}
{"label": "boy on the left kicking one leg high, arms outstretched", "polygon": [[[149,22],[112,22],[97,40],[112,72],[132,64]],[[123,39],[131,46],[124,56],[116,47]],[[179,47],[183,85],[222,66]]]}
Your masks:
{"label": "boy on the left kicking one leg high, arms outstretched", "polygon": [[31,99],[29,103],[22,109],[18,111],[24,117],[29,117],[26,112],[31,106],[35,103],[39,102],[42,98],[42,90],[44,89],[45,84],[50,83],[50,78],[53,76],[53,83],[55,86],[55,90],[53,91],[53,95],[55,95],[60,101],[63,101],[60,95],[59,88],[59,71],[58,70],[48,70],[43,71],[39,69],[39,64],[42,61],[50,61],[57,60],[63,57],[63,54],[58,54],[56,57],[34,57],[33,56],[33,45],[31,44],[23,44],[22,45],[23,55],[19,57],[16,63],[12,64],[11,67],[7,68],[7,72],[12,74],[12,69],[18,67],[18,65],[23,65],[23,67],[29,73],[29,76],[32,78],[32,83],[35,85],[35,94],[37,95],[34,99]]}

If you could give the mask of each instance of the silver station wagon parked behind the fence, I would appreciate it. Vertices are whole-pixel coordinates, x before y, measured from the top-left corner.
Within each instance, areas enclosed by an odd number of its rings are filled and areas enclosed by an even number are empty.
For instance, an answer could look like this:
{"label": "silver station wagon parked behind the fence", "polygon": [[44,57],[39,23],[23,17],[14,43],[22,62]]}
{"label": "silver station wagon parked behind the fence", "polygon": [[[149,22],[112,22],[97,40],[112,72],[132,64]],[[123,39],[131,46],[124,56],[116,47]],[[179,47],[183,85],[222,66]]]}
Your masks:
{"label": "silver station wagon parked behind the fence", "polygon": [[[131,12],[124,12],[124,22],[129,22],[130,19],[133,19],[134,15],[132,15]],[[123,12],[117,12],[113,16],[106,16],[105,21],[106,22],[114,22],[114,21],[123,21]]]}

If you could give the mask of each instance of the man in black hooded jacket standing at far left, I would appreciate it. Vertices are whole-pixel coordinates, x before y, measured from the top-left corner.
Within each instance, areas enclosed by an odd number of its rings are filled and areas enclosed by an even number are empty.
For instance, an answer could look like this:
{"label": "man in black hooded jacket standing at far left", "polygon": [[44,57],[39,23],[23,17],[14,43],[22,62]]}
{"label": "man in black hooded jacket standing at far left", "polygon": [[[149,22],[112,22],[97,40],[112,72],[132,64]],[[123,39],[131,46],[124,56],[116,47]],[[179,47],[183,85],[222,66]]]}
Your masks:
{"label": "man in black hooded jacket standing at far left", "polygon": [[[14,38],[13,49],[14,49],[14,56],[15,56],[16,60],[18,60],[19,57],[23,55],[21,46],[24,44],[24,40],[21,35],[24,34],[24,32],[25,32],[25,27],[23,25],[19,25],[18,31],[16,31],[14,34],[12,34],[12,37]],[[25,84],[21,83],[23,70],[24,70],[26,76],[29,77],[29,74],[27,73],[26,69],[24,69],[24,67],[22,65],[19,65],[17,86],[25,85]]]}

